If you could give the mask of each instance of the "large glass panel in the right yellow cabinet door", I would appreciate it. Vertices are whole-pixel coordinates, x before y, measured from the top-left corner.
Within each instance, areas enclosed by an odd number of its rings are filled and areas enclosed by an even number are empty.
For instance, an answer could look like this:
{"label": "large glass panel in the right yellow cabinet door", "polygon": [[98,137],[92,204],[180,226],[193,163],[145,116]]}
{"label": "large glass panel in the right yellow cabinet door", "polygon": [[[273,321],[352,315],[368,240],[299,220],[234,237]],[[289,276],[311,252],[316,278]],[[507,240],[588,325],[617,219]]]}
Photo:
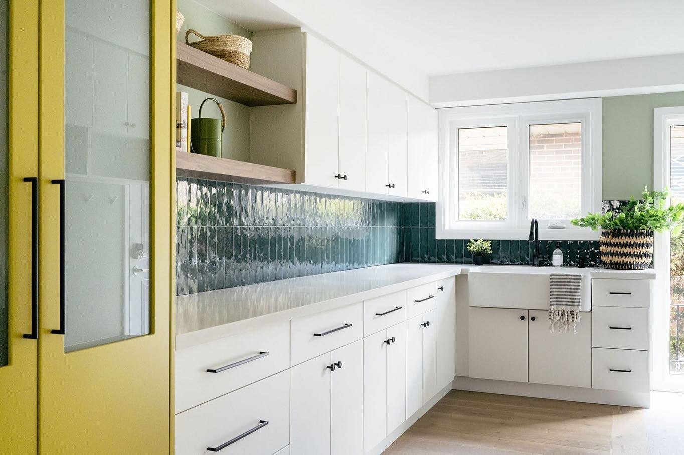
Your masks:
{"label": "large glass panel in the right yellow cabinet door", "polygon": [[149,333],[150,2],[66,0],[66,352]]}

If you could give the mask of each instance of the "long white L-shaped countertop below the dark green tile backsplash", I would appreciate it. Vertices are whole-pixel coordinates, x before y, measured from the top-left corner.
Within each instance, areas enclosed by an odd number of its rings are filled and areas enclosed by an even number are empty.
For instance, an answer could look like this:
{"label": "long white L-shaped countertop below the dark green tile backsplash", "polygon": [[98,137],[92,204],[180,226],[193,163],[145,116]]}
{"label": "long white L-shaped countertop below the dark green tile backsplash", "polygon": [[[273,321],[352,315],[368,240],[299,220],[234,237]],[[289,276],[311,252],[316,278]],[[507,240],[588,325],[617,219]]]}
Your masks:
{"label": "long white L-shaped countertop below the dark green tile backsplash", "polygon": [[[497,265],[484,268],[503,273],[532,269],[531,266]],[[244,331],[253,327],[256,320],[304,316],[477,269],[473,264],[386,264],[179,295],[176,296],[176,348],[225,336],[226,325],[230,325],[231,332]],[[542,270],[551,273],[554,268],[534,267],[536,273]],[[563,271],[568,272],[566,268]],[[590,273],[595,278],[655,278],[653,269],[573,268],[573,271]]]}

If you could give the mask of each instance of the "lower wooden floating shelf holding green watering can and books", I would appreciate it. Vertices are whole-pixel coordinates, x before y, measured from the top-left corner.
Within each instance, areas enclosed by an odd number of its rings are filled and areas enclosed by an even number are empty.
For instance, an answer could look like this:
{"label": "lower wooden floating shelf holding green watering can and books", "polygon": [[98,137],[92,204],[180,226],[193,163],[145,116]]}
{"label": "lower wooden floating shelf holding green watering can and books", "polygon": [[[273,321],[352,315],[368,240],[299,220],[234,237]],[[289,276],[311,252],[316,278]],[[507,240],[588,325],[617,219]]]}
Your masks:
{"label": "lower wooden floating shelf holding green watering can and books", "polygon": [[293,184],[295,171],[176,151],[176,175],[237,183]]}

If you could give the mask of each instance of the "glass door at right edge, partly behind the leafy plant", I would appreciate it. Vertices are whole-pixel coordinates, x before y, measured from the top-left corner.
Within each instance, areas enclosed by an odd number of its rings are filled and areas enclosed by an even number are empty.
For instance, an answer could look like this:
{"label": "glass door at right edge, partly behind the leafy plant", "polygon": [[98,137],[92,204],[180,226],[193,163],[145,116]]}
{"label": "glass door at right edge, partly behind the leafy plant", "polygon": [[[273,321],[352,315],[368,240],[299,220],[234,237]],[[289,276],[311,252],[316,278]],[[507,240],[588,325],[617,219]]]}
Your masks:
{"label": "glass door at right edge, partly behind the leafy plant", "polygon": [[[684,107],[655,109],[656,189],[684,202]],[[653,388],[684,392],[684,236],[657,234],[653,305]]]}

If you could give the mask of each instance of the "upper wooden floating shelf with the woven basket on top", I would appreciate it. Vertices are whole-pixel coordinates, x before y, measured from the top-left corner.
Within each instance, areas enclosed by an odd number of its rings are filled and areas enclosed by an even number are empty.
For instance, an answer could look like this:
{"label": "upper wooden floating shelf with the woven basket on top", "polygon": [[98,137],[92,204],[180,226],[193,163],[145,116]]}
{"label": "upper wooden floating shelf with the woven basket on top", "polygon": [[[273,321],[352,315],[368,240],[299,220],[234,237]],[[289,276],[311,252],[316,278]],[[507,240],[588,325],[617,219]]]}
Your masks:
{"label": "upper wooden floating shelf with the woven basket on top", "polygon": [[179,41],[176,82],[250,107],[297,102],[297,90]]}

